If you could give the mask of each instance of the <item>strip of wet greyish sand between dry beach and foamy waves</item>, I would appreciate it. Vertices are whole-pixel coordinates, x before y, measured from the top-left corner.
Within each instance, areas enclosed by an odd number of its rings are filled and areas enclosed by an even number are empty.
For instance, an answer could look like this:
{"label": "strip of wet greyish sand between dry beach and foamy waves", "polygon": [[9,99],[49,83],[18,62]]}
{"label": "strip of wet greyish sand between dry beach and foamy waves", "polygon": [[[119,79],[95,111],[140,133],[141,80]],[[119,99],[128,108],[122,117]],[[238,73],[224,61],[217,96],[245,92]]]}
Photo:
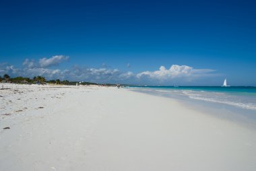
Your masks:
{"label": "strip of wet greyish sand between dry beach and foamy waves", "polygon": [[196,110],[204,114],[210,114],[212,116],[218,117],[220,119],[225,119],[230,122],[243,125],[244,127],[249,127],[256,129],[256,110],[239,108],[238,106],[232,106],[228,104],[222,104],[218,102],[210,102],[204,100],[197,100],[189,98],[187,96],[180,95],[169,95],[163,94],[162,92],[156,91],[144,91],[139,89],[129,89],[127,90],[132,92],[138,92],[141,94],[149,94],[151,96],[158,96],[163,98],[170,98],[176,100],[183,104],[184,107],[189,108],[190,110]]}

